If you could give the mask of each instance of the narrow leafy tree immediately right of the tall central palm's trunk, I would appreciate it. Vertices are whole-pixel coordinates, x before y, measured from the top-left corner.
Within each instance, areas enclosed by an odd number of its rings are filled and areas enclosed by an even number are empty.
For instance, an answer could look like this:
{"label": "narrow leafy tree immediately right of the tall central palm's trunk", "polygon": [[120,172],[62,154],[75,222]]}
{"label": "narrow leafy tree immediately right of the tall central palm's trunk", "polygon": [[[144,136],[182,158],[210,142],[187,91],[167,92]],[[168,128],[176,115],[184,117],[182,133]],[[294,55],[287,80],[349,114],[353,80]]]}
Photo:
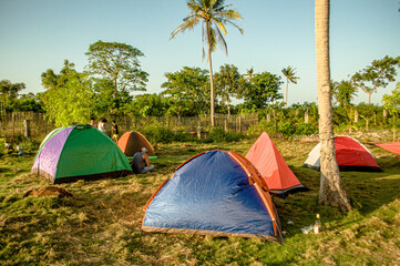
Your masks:
{"label": "narrow leafy tree immediately right of the tall central palm's trunk", "polygon": [[228,108],[230,115],[230,98],[236,95],[242,85],[242,76],[238,69],[233,64],[220,65],[219,72],[215,73],[216,94],[219,95],[222,102]]}

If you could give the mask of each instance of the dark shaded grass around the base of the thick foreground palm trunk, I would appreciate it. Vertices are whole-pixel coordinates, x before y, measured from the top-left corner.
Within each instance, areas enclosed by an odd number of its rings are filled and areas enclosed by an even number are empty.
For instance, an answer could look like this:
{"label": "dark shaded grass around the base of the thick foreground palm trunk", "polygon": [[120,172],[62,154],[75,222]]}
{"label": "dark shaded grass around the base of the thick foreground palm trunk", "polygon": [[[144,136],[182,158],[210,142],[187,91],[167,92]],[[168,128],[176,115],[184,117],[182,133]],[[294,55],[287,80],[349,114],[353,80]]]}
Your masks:
{"label": "dark shaded grass around the base of the thick foreground palm trunk", "polygon": [[[377,162],[383,172],[340,172],[353,209],[363,216],[391,203],[400,195],[398,188],[400,187],[400,161],[396,157],[384,157],[378,158]],[[345,217],[343,214],[332,207],[318,205],[320,172],[304,166],[290,165],[290,168],[301,184],[310,191],[290,194],[286,198],[274,197],[283,231],[288,233],[284,238],[302,234],[300,228],[312,225],[317,213],[321,214],[324,223],[339,223]],[[288,224],[288,221],[294,223]]]}

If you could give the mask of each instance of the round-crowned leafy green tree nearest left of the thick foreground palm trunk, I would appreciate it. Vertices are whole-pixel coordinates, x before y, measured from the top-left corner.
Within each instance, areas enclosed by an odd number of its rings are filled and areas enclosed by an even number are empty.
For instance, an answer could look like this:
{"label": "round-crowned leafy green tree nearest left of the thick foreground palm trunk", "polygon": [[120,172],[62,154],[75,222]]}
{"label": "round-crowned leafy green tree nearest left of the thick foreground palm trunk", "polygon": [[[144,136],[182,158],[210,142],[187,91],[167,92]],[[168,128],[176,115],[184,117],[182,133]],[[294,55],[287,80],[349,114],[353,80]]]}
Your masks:
{"label": "round-crowned leafy green tree nearest left of the thick foreground palm trunk", "polygon": [[254,74],[252,84],[240,88],[238,98],[244,99],[244,105],[248,109],[265,109],[269,102],[284,98],[279,93],[281,84],[280,76],[276,74],[269,72]]}

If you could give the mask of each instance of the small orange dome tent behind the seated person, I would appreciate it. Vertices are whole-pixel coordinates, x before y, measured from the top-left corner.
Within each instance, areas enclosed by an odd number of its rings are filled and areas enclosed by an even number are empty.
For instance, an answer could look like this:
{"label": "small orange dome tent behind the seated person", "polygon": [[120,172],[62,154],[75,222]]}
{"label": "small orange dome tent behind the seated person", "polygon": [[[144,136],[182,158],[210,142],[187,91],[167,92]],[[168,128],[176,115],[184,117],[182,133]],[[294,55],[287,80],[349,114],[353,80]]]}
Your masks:
{"label": "small orange dome tent behind the seated person", "polygon": [[142,147],[147,149],[147,154],[154,156],[154,149],[144,135],[136,131],[124,133],[116,143],[121,151],[126,156],[133,156],[136,152],[140,152]]}

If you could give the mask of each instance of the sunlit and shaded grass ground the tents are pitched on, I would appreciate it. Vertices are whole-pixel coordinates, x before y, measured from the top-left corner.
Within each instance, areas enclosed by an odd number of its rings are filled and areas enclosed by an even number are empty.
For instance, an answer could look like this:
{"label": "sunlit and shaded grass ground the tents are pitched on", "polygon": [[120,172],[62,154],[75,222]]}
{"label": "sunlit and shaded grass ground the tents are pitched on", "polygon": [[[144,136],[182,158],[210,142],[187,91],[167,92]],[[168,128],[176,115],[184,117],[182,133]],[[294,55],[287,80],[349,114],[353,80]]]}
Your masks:
{"label": "sunlit and shaded grass ground the tents are pitched on", "polygon": [[[382,173],[343,172],[355,211],[319,206],[319,173],[301,167],[315,142],[274,140],[302,184],[311,188],[274,197],[285,244],[140,229],[143,206],[176,166],[214,149],[245,154],[253,141],[222,144],[158,144],[156,171],[95,182],[61,184],[74,198],[24,197],[50,185],[30,175],[34,150],[0,160],[1,265],[399,265],[400,161],[379,147]],[[300,228],[321,216],[322,232]],[[294,224],[288,224],[291,221]]]}

